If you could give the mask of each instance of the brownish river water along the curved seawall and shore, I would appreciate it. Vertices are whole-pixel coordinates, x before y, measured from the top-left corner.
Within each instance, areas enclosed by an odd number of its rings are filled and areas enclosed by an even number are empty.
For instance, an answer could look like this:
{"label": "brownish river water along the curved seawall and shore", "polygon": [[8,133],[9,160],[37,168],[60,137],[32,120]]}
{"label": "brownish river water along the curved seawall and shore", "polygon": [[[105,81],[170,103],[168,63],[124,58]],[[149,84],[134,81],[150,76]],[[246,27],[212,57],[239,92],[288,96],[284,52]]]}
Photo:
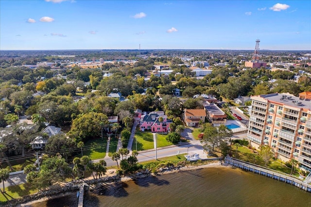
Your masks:
{"label": "brownish river water along the curved seawall and shore", "polygon": [[[231,168],[161,174],[104,185],[96,192],[102,195],[85,194],[84,207],[311,207],[310,192]],[[49,202],[35,207],[61,207],[59,204],[76,207],[72,197],[57,202],[57,205]]]}

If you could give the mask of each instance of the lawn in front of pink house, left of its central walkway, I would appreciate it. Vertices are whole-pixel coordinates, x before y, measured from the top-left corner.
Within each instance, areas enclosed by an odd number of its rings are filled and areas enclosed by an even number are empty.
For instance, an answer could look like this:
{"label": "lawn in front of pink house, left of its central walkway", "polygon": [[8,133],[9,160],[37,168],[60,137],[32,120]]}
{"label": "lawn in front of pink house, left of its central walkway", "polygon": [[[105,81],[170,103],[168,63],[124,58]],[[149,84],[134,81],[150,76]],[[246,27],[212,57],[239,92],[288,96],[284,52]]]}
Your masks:
{"label": "lawn in front of pink house, left of its central walkway", "polygon": [[137,151],[153,149],[154,138],[153,138],[152,133],[136,131],[135,136],[134,136],[132,150],[136,150],[136,146],[137,146]]}

